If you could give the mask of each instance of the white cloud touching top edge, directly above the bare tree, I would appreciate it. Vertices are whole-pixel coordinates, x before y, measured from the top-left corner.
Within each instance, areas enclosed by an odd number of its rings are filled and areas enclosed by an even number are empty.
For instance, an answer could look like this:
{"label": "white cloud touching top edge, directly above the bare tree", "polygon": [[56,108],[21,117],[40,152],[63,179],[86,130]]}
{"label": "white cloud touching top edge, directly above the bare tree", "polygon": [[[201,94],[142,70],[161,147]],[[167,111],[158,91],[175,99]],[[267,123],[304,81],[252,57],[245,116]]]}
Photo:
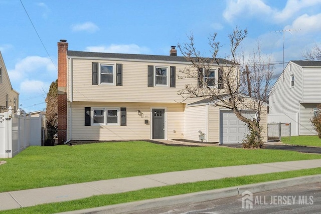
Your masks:
{"label": "white cloud touching top edge, directly above the bare tree", "polygon": [[227,8],[223,12],[223,17],[232,22],[238,16],[243,18],[246,16],[270,14],[273,10],[267,6],[262,0],[229,0]]}

